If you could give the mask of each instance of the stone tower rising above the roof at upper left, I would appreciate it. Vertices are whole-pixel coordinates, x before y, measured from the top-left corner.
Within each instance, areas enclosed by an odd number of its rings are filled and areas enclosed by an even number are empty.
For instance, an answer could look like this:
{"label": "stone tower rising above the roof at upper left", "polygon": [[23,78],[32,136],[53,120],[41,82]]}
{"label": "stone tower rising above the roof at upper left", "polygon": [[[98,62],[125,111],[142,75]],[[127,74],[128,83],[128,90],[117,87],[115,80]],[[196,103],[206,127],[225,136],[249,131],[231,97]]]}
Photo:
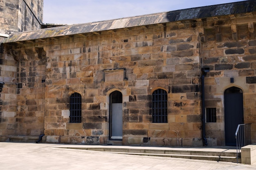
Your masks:
{"label": "stone tower rising above the roof at upper left", "polygon": [[43,0],[0,0],[0,33],[40,29]]}

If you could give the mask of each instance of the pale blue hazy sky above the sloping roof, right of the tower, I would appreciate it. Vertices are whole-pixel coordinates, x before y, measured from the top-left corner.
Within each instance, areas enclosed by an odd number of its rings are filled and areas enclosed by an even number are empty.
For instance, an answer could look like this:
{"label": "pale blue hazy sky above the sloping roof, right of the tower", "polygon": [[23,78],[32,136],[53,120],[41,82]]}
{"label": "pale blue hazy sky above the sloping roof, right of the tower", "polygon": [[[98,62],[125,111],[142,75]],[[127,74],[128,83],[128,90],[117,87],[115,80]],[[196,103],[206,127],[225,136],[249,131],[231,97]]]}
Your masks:
{"label": "pale blue hazy sky above the sloping roof, right of the tower", "polygon": [[44,0],[43,23],[82,24],[243,0]]}

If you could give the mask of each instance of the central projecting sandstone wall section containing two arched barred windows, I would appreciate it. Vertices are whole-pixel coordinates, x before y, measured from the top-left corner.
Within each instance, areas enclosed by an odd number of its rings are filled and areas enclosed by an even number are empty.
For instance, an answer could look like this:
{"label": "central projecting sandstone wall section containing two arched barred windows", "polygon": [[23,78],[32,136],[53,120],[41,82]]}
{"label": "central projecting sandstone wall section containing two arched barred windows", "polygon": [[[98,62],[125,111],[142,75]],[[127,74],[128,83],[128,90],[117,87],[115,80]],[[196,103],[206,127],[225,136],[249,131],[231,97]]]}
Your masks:
{"label": "central projecting sandstone wall section containing two arched barred windows", "polygon": [[[118,90],[123,95],[123,144],[201,146],[198,32],[191,25],[152,25],[47,41],[47,140],[107,143],[108,98]],[[115,69],[121,68],[125,80],[115,77]],[[168,123],[152,123],[150,96],[157,88],[168,92]],[[74,92],[82,95],[81,124],[69,123]]]}

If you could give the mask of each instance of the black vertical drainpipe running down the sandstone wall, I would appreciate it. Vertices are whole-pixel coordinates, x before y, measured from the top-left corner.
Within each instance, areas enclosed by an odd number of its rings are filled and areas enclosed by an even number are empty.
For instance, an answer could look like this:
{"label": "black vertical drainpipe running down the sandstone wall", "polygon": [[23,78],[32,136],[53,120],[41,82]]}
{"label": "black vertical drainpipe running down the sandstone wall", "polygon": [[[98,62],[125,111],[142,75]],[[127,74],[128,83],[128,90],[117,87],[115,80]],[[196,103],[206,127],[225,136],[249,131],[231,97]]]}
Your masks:
{"label": "black vertical drainpipe running down the sandstone wall", "polygon": [[208,146],[207,139],[205,137],[205,102],[204,102],[204,76],[206,75],[207,72],[210,71],[210,68],[202,68],[202,91],[201,91],[201,96],[202,96],[202,140],[203,140],[203,145]]}

